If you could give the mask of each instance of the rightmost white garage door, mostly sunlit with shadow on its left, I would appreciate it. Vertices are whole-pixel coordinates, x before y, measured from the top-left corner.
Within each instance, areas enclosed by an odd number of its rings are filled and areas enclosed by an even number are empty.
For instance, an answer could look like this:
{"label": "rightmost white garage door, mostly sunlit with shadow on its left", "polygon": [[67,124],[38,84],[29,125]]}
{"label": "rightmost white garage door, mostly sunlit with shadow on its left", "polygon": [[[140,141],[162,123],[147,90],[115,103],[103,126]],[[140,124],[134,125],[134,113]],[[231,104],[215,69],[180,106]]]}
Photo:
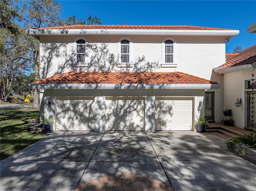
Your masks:
{"label": "rightmost white garage door, mostly sunlit with shadow on its left", "polygon": [[192,130],[191,98],[156,98],[156,130]]}

